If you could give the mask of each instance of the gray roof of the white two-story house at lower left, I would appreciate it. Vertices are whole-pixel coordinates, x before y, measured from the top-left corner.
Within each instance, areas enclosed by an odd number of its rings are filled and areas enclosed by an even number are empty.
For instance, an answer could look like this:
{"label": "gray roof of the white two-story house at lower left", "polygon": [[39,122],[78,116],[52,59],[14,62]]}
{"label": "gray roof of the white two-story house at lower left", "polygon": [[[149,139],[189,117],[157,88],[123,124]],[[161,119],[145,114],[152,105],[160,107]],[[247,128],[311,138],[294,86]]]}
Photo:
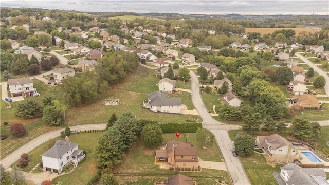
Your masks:
{"label": "gray roof of the white two-story house at lower left", "polygon": [[68,142],[68,141],[61,141],[57,140],[56,143],[51,147],[51,149],[47,150],[41,156],[51,157],[51,158],[60,158],[69,150],[74,149],[78,144]]}

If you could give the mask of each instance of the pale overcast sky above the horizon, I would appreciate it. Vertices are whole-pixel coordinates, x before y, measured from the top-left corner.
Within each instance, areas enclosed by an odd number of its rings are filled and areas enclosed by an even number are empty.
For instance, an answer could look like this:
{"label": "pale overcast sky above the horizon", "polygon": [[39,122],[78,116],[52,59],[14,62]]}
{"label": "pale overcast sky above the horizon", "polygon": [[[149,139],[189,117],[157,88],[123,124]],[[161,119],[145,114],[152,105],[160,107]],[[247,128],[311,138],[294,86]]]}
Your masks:
{"label": "pale overcast sky above the horizon", "polygon": [[0,6],[84,12],[329,15],[328,0],[1,0]]}

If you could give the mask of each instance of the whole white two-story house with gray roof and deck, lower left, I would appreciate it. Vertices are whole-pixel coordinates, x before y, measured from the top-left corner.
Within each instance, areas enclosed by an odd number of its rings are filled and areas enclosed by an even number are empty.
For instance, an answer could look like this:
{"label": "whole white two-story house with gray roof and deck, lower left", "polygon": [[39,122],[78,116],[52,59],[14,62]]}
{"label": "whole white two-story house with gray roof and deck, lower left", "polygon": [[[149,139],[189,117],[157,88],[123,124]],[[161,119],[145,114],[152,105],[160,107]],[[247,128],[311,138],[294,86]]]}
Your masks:
{"label": "whole white two-story house with gray roof and deck, lower left", "polygon": [[60,174],[67,164],[76,164],[85,156],[83,150],[78,149],[78,144],[57,140],[51,149],[41,155],[43,170]]}

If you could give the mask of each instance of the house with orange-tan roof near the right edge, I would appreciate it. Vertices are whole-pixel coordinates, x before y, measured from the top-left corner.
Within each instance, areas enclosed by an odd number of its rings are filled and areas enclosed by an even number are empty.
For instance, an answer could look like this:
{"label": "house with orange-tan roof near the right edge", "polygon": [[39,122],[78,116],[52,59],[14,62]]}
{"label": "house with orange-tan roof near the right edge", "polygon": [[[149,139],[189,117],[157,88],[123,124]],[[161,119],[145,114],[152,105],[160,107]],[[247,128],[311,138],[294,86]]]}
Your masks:
{"label": "house with orange-tan roof near the right edge", "polygon": [[321,103],[319,102],[319,99],[315,95],[310,95],[310,94],[296,95],[291,97],[291,99],[296,99],[297,106],[300,106],[301,108],[317,107],[317,109],[319,109],[321,107]]}

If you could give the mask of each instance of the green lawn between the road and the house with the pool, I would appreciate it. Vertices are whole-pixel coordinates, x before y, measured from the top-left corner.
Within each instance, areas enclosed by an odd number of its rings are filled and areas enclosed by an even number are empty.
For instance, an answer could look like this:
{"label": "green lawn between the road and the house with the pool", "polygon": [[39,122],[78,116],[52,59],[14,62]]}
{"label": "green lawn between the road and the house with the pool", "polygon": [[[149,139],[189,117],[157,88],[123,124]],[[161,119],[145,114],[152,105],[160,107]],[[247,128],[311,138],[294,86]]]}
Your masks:
{"label": "green lawn between the road and the house with the pool", "polygon": [[266,163],[262,154],[252,154],[249,157],[239,156],[242,165],[247,173],[251,184],[277,185],[277,180],[273,177],[273,172],[280,173],[281,165],[275,168]]}

